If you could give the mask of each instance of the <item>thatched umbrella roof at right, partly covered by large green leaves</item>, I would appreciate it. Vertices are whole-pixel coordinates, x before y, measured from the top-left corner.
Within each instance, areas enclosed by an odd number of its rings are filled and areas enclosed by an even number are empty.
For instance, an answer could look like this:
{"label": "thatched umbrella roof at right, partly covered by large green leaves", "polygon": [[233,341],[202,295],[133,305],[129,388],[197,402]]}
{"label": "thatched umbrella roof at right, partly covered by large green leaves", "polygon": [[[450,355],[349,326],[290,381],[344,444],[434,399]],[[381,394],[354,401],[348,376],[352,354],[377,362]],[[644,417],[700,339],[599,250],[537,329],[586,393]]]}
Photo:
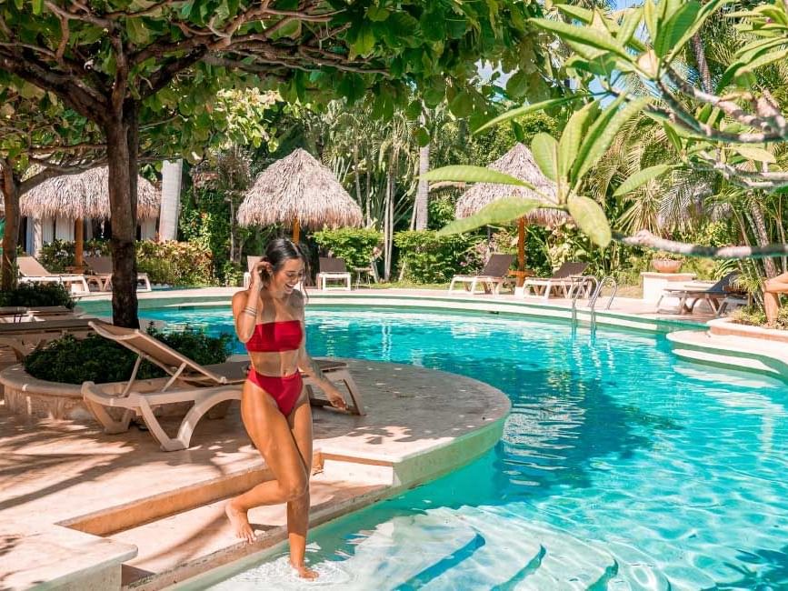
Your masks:
{"label": "thatched umbrella roof at right, partly covered by large green leaves", "polygon": [[[544,195],[550,196],[552,203],[556,203],[554,182],[542,174],[531,150],[524,145],[515,144],[511,150],[487,167],[531,183]],[[490,205],[495,200],[504,197],[523,197],[545,201],[544,197],[524,186],[477,183],[457,199],[454,215],[458,218],[474,215],[484,205]],[[534,224],[553,225],[563,222],[566,215],[557,209],[535,209],[526,215],[526,218]]]}

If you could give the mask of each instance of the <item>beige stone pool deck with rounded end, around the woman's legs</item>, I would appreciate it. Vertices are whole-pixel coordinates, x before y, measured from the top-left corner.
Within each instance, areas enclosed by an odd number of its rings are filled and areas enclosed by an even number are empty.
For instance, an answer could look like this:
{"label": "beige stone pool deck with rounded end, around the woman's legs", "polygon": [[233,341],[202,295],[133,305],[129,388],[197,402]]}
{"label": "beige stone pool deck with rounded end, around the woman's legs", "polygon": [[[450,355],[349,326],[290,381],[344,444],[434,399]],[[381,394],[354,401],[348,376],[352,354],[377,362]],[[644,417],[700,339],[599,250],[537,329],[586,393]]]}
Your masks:
{"label": "beige stone pool deck with rounded end, around the woman's legs", "polygon": [[[350,360],[366,416],[314,409],[317,525],[480,456],[509,400],[481,382],[415,366]],[[162,452],[132,427],[30,420],[0,405],[0,589],[156,589],[284,540],[284,506],[250,513],[237,543],[224,499],[270,478],[237,403]]]}

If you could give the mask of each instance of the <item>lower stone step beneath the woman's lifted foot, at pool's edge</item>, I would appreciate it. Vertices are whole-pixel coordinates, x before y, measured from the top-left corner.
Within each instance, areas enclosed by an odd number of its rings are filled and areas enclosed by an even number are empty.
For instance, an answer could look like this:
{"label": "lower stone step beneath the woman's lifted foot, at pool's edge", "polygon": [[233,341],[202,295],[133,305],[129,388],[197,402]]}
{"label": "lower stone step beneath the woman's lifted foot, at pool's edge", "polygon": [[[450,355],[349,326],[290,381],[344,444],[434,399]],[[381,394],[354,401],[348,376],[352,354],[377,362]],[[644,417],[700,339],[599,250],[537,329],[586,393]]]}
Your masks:
{"label": "lower stone step beneath the woman's lifted foot, at pool's edge", "polygon": [[[385,489],[386,486],[379,483],[314,476],[310,521],[315,526],[344,515],[357,506],[368,504],[371,497],[383,496]],[[160,589],[284,541],[283,505],[250,511],[249,521],[257,533],[257,540],[247,545],[235,538],[224,515],[225,502],[224,499],[216,500],[109,536],[139,548],[135,559],[124,564],[124,586]]]}

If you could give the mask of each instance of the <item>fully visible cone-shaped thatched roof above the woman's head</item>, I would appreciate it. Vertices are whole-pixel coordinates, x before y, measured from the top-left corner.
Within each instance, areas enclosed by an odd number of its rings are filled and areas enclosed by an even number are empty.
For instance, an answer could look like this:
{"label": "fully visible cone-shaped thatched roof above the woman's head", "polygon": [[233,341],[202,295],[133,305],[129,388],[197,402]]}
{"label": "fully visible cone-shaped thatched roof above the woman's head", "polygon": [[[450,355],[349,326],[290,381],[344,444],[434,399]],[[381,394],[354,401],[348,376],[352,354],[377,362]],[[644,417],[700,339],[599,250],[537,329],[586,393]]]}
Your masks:
{"label": "fully visible cone-shaped thatched roof above the woman's head", "polygon": [[357,226],[361,207],[331,171],[301,148],[268,166],[238,207],[240,225]]}

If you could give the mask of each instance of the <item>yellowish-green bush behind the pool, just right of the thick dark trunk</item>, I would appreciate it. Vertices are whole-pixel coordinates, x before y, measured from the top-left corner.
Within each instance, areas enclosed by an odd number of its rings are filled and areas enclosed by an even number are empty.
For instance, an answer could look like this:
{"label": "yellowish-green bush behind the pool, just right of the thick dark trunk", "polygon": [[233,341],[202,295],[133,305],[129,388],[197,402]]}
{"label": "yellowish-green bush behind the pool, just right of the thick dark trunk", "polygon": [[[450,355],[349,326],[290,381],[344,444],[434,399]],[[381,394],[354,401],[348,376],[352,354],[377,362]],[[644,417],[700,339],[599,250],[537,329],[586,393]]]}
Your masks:
{"label": "yellowish-green bush behind the pool, just right of the thick dark trunk", "polygon": [[198,242],[137,243],[137,269],[151,283],[166,285],[215,285],[211,250]]}

